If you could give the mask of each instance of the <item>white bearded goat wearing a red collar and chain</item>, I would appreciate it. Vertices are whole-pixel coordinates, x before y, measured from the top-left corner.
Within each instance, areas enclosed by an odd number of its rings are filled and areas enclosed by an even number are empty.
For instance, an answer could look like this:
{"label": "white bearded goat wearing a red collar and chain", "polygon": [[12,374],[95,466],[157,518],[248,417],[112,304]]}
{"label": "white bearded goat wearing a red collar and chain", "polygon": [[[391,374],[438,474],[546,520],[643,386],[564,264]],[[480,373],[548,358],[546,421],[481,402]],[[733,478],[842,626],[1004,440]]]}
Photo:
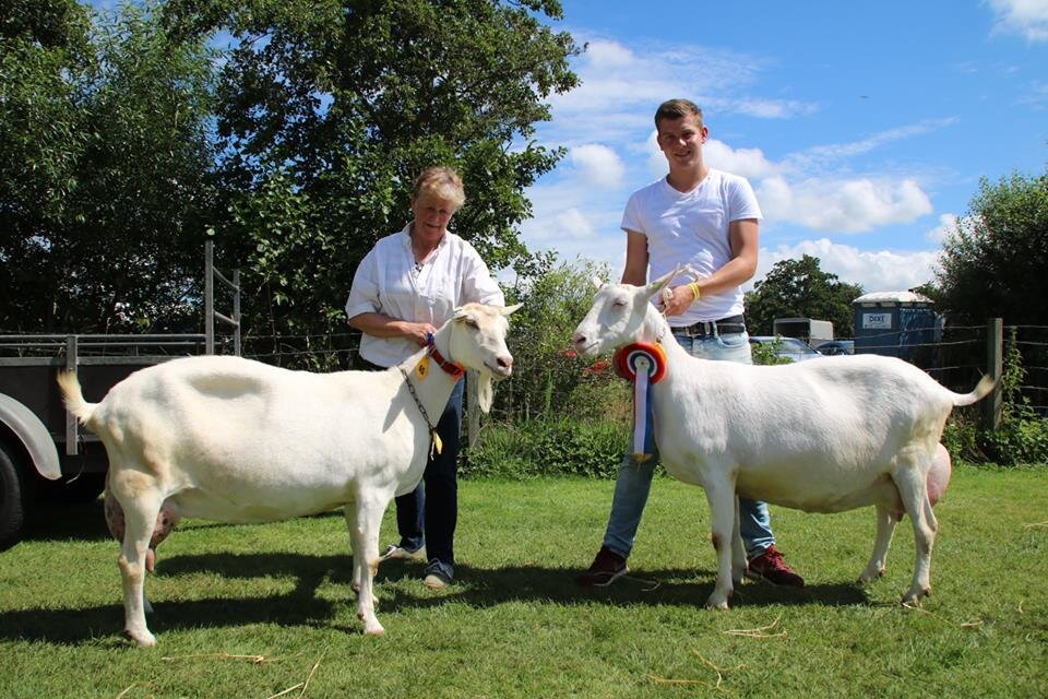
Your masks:
{"label": "white bearded goat wearing a red collar and chain", "polygon": [[[512,371],[504,317],[516,308],[467,304],[433,335],[448,362],[479,371],[485,412],[492,376]],[[343,506],[357,616],[366,633],[382,633],[372,595],[379,526],[390,500],[422,477],[436,423],[420,406],[439,418],[458,378],[436,360],[422,365],[426,354],[386,371],[327,375],[188,357],[136,371],[97,404],[84,401],[75,374],[59,375],[67,408],[106,446],[109,490],[123,509],[126,632],[139,645],[156,643],[143,585],[162,510],[253,523]]]}

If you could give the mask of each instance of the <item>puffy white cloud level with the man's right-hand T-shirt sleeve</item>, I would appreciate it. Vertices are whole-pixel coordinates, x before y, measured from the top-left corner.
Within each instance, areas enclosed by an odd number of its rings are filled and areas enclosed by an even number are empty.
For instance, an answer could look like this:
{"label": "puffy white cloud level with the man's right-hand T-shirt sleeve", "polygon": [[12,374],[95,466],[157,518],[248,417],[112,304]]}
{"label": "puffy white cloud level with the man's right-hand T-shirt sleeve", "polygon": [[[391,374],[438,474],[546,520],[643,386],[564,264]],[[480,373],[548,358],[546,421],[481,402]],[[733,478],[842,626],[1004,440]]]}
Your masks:
{"label": "puffy white cloud level with the man's right-hand T-shirt sleeve", "polygon": [[932,212],[931,201],[912,179],[808,179],[788,182],[781,176],[757,187],[764,217],[814,230],[861,233],[906,223]]}

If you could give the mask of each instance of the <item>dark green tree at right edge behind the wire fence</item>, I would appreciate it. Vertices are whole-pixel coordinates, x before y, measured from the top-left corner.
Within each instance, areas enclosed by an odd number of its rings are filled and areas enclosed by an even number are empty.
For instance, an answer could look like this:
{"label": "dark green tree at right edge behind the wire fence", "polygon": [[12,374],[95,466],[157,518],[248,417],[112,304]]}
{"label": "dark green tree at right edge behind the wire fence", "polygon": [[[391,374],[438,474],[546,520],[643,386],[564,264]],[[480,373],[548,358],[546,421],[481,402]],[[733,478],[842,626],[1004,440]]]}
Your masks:
{"label": "dark green tree at right edge behind the wire fence", "polygon": [[937,288],[939,308],[955,324],[1048,324],[1048,170],[1013,174],[979,193],[943,244]]}

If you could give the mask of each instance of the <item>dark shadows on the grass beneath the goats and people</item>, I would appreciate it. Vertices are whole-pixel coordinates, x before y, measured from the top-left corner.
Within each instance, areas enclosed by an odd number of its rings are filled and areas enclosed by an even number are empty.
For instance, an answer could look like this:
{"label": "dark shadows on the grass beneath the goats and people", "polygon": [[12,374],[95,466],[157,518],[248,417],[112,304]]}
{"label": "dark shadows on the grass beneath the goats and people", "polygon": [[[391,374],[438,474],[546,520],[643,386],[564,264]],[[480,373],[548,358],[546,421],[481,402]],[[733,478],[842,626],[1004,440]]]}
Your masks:
{"label": "dark shadows on the grass beneath the goats and people", "polygon": [[[158,576],[217,573],[224,578],[285,576],[297,579],[295,589],[282,595],[252,599],[223,599],[157,602],[150,628],[157,633],[172,629],[242,626],[276,623],[282,626],[330,626],[340,608],[353,604],[348,589],[352,579],[348,556],[302,556],[298,554],[193,555],[176,556],[157,564]],[[116,567],[114,567],[116,568]],[[377,578],[379,608],[390,614],[410,608],[428,608],[461,601],[471,607],[489,607],[507,602],[539,602],[561,605],[659,605],[701,609],[713,591],[710,570],[662,569],[639,571],[609,588],[581,588],[574,577],[580,570],[541,566],[474,568],[456,566],[461,581],[445,592],[433,593],[418,580],[421,566],[390,561]],[[400,584],[410,581],[410,584]],[[325,582],[346,587],[345,601],[317,596]],[[119,578],[116,569],[112,580]],[[657,587],[652,590],[653,585]],[[417,593],[416,593],[417,590]],[[771,604],[844,606],[867,604],[868,597],[856,584],[819,584],[802,590],[769,584],[743,584],[733,597],[736,607]],[[81,608],[36,608],[0,612],[0,639],[39,640],[78,644],[123,628],[123,608],[110,604]],[[347,630],[359,631],[358,626]],[[121,641],[122,642],[122,641]]]}

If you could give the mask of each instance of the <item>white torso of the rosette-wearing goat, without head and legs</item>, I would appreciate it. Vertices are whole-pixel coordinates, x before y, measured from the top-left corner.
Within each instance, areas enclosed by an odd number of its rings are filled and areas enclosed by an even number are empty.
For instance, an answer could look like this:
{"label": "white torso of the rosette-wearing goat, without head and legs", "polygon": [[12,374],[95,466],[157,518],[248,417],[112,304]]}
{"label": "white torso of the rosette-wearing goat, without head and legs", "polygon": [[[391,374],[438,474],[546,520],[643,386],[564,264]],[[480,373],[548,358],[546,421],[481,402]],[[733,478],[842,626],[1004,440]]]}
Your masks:
{"label": "white torso of the rosette-wearing goat, without head and legs", "polygon": [[897,454],[933,453],[953,407],[954,393],[891,357],[747,366],[672,345],[671,369],[653,388],[666,470],[703,485],[706,469],[727,469],[739,495],[808,512],[902,511],[890,476]]}

